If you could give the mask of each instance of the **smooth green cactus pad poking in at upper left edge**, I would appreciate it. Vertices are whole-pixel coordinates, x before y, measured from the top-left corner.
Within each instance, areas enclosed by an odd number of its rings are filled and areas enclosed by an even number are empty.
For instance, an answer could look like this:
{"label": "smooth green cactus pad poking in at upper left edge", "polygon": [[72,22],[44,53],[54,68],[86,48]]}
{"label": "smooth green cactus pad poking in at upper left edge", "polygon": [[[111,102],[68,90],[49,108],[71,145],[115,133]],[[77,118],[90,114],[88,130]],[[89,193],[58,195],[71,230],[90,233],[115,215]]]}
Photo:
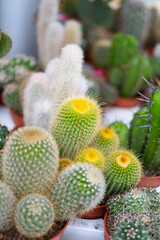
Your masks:
{"label": "smooth green cactus pad poking in at upper left edge", "polygon": [[11,38],[0,29],[0,58],[5,56],[12,47]]}

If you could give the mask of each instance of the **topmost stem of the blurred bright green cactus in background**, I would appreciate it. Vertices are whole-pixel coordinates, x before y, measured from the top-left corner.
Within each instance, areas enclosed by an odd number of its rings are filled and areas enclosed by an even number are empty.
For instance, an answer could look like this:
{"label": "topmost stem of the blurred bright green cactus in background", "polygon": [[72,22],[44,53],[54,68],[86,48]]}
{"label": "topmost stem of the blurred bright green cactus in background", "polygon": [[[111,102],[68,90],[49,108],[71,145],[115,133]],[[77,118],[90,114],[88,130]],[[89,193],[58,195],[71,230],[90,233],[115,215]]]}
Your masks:
{"label": "topmost stem of the blurred bright green cactus in background", "polygon": [[110,67],[119,68],[125,65],[137,52],[138,41],[134,36],[117,33],[113,38],[110,49]]}

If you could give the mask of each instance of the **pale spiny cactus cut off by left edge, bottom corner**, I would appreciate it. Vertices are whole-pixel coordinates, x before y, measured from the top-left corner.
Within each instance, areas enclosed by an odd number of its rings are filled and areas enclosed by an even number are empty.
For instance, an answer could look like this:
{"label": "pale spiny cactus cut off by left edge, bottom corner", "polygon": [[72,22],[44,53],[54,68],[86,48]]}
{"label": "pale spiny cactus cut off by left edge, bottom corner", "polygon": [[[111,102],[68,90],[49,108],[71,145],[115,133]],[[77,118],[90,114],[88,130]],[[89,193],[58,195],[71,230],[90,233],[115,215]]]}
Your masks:
{"label": "pale spiny cactus cut off by left edge, bottom corner", "polygon": [[16,198],[9,186],[0,181],[0,232],[6,232],[14,226]]}

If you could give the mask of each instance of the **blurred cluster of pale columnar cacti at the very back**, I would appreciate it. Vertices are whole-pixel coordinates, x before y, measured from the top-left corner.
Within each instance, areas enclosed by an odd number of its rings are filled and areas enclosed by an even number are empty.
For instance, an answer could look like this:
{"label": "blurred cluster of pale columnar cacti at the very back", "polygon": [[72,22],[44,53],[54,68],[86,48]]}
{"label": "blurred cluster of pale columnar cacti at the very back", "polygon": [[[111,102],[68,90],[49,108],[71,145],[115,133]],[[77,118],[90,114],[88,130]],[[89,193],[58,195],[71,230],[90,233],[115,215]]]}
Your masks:
{"label": "blurred cluster of pale columnar cacti at the very back", "polygon": [[82,43],[81,24],[76,20],[67,20],[64,24],[58,20],[59,0],[42,0],[37,22],[37,41],[39,61],[45,68],[49,60],[59,57],[61,48],[73,43]]}

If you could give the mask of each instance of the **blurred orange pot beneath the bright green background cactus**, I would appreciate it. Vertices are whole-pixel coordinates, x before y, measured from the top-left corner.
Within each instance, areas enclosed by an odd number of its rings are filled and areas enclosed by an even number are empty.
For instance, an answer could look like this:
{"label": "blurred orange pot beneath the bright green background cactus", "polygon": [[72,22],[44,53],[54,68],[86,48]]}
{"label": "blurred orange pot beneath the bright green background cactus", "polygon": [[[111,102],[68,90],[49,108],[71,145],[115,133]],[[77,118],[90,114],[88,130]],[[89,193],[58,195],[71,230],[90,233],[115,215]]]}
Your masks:
{"label": "blurred orange pot beneath the bright green background cactus", "polygon": [[113,106],[128,108],[128,107],[135,107],[140,103],[141,103],[141,100],[139,100],[137,98],[122,98],[122,97],[119,97],[113,103]]}

